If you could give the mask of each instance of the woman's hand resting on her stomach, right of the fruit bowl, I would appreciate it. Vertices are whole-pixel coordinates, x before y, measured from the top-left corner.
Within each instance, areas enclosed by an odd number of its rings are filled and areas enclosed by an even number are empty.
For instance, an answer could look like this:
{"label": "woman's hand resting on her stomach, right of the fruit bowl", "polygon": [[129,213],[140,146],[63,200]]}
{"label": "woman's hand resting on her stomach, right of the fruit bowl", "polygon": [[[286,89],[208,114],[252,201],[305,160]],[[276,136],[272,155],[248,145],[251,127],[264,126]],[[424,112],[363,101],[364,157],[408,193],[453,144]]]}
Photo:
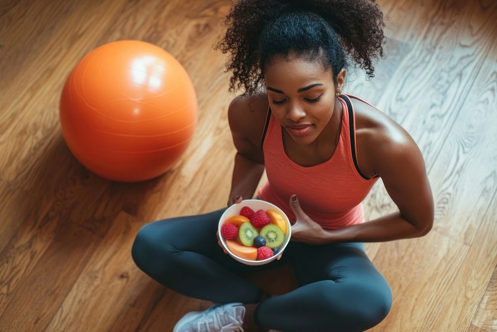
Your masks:
{"label": "woman's hand resting on her stomach, right of the fruit bowl", "polygon": [[291,240],[314,245],[324,244],[323,227],[302,211],[297,195],[294,196],[295,202],[292,201],[293,195],[290,197],[290,208],[296,218],[292,225]]}

